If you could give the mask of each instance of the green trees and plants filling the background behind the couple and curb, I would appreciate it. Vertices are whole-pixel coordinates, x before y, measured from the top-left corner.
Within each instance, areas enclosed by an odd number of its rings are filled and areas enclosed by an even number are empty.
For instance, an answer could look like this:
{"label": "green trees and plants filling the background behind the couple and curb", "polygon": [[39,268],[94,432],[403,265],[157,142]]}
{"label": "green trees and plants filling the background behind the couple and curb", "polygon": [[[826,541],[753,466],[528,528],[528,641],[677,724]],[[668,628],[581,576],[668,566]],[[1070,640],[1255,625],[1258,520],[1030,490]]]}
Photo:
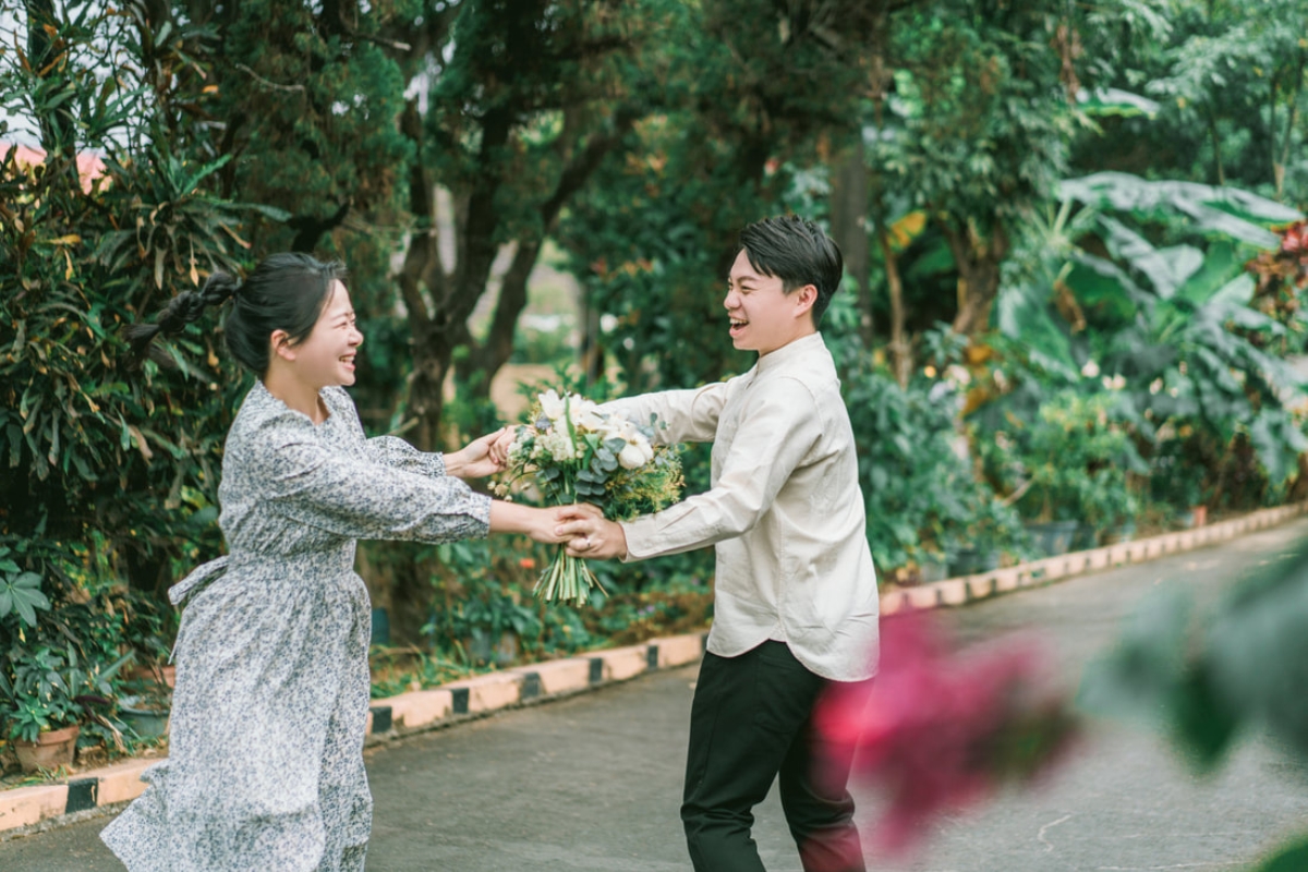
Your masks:
{"label": "green trees and plants filling the background behind the couple and curb", "polygon": [[[369,431],[441,450],[500,422],[515,358],[600,397],[744,371],[721,329],[735,234],[823,222],[887,583],[1028,556],[1023,520],[1096,536],[1308,495],[1301,4],[26,0],[5,21],[0,140],[44,152],[0,158],[7,641],[65,587],[157,599],[221,550],[249,378],[217,322],[139,370],[120,328],[288,248],[351,268]],[[543,267],[578,288],[548,339],[521,328]],[[706,486],[705,451],[687,473]],[[602,567],[615,595],[581,616],[532,601],[540,565],[519,541],[364,548],[411,646],[396,675],[709,616],[709,553]]]}

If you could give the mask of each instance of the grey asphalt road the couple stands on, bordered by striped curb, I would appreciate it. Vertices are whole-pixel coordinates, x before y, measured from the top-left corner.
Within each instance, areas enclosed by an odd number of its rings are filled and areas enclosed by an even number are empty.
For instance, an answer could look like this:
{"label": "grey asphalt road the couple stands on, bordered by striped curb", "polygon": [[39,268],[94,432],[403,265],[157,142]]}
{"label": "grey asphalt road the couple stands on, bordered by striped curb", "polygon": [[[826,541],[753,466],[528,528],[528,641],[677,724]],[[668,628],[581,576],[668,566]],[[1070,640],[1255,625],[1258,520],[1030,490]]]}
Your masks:
{"label": "grey asphalt road the couple stands on, bordered by striped curb", "polygon": [[[1273,560],[1308,520],[948,612],[968,639],[1039,630],[1075,680],[1151,587],[1201,597]],[[693,668],[502,713],[369,752],[377,818],[369,872],[684,872],[676,808]],[[1079,872],[1245,868],[1308,830],[1308,771],[1250,739],[1215,777],[1162,743],[1105,724],[1039,791],[1005,795],[933,828],[887,872]],[[855,795],[871,820],[874,786]],[[120,869],[93,820],[0,843],[4,872]],[[799,872],[776,797],[756,835],[772,872]]]}

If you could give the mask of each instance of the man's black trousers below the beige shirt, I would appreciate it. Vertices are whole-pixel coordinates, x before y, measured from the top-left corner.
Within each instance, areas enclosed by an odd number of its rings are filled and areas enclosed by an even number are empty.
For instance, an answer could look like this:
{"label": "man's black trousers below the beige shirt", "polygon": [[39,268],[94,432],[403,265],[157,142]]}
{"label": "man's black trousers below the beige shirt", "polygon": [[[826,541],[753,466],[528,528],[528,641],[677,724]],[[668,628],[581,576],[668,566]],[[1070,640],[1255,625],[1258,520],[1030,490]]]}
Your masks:
{"label": "man's black trousers below the beige shirt", "polygon": [[781,778],[781,805],[804,872],[863,872],[853,748],[823,741],[814,703],[828,681],[782,642],[736,658],[705,652],[691,709],[681,822],[697,872],[765,872],[749,829]]}

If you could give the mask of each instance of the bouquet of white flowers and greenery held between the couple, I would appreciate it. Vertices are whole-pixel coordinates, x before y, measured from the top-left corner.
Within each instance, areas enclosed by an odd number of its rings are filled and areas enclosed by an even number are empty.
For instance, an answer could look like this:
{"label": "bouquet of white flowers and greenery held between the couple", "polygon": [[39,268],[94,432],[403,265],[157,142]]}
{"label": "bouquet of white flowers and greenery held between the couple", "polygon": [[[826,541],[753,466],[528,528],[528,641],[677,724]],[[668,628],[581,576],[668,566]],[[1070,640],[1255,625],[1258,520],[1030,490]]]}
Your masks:
{"label": "bouquet of white flowers and greenery held between the couple", "polygon": [[[494,485],[501,497],[526,482],[547,505],[589,502],[608,520],[629,520],[676,502],[681,493],[680,458],[675,448],[654,444],[654,416],[638,425],[600,412],[582,396],[551,390],[539,395],[528,421],[517,429],[508,468]],[[604,590],[586,561],[560,545],[535,591],[545,600],[579,605],[593,587]]]}

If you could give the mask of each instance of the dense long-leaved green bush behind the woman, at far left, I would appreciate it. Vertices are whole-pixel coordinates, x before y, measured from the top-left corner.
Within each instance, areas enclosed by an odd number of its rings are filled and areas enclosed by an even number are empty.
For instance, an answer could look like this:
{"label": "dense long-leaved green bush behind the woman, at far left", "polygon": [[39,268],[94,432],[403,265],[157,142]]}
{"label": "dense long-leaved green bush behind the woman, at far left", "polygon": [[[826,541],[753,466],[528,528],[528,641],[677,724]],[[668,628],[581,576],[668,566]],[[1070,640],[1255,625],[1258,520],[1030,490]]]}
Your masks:
{"label": "dense long-leaved green bush behind the woman, at far left", "polygon": [[[170,631],[123,582],[158,595],[217,550],[221,442],[242,387],[213,331],[133,366],[122,328],[235,269],[246,212],[212,195],[222,161],[191,157],[150,98],[203,80],[150,78],[166,64],[143,73],[143,31],[124,16],[77,7],[50,31],[44,64],[0,55],[0,102],[42,122],[47,152],[0,162],[0,720],[10,735],[80,722],[84,744],[111,746],[123,658],[141,646],[157,659]],[[181,42],[161,63],[169,51]],[[103,154],[94,179],[78,173],[90,153]],[[146,612],[157,617],[133,625]]]}

